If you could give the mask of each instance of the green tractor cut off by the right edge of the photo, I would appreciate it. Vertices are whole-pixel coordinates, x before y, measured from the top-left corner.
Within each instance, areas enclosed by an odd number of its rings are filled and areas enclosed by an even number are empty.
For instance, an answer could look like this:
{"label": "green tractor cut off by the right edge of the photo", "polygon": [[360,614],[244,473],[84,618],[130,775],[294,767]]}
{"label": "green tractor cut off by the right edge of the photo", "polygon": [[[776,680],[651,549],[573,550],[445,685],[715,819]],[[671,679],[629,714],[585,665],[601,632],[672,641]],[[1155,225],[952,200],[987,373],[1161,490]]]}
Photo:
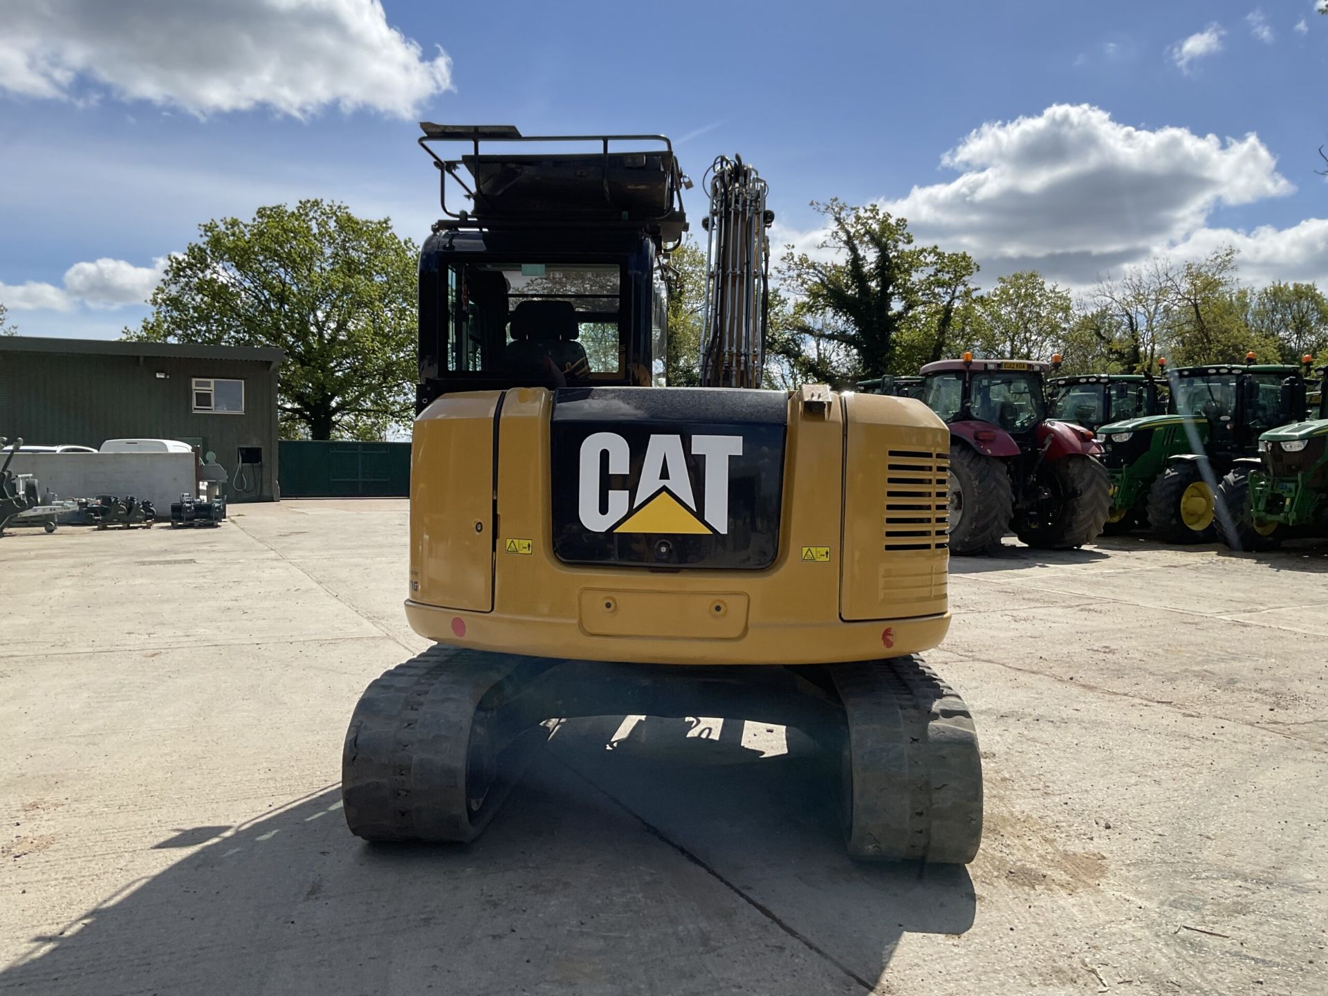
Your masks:
{"label": "green tractor cut off by the right edge of the photo", "polygon": [[1291,534],[1328,537],[1328,367],[1313,417],[1259,437],[1259,456],[1238,459],[1219,495],[1231,514],[1227,546],[1270,550]]}

